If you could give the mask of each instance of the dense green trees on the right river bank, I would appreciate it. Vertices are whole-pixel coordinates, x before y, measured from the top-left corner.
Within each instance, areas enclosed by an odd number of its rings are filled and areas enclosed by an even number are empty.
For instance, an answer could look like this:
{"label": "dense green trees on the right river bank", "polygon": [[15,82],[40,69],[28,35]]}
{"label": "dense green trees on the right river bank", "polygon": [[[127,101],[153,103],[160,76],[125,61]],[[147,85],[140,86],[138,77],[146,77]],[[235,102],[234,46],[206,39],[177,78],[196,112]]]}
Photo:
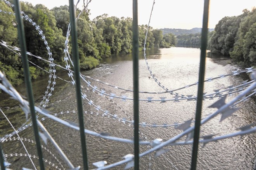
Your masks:
{"label": "dense green trees on the right river bank", "polygon": [[228,55],[242,67],[256,65],[256,8],[251,12],[224,17],[209,41],[212,53]]}

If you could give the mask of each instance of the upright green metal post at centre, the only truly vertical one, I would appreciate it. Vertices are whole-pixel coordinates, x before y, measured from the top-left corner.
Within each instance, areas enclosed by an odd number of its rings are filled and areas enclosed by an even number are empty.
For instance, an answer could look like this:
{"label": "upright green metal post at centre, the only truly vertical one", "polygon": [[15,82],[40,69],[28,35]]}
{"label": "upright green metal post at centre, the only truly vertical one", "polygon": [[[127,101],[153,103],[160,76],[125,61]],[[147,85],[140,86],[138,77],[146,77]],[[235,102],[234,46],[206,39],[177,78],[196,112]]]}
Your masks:
{"label": "upright green metal post at centre, the only truly vertical one", "polygon": [[139,146],[139,94],[138,94],[138,1],[133,0],[133,117],[134,117],[134,169],[140,169]]}

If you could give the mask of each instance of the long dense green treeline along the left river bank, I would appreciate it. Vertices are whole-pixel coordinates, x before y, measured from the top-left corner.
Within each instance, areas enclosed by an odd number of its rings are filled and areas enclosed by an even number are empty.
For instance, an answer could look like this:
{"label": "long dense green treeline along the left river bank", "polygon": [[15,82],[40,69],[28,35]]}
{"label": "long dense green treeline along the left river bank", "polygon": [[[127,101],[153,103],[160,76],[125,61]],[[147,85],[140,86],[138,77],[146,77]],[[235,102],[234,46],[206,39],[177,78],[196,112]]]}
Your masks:
{"label": "long dense green treeline along the left river bank", "polygon": [[[54,62],[63,65],[63,49],[69,24],[68,6],[54,7],[49,10],[42,4],[33,6],[28,2],[21,2],[22,10],[44,32],[45,39],[51,49]],[[2,11],[13,12],[10,6],[0,1]],[[80,10],[77,10],[77,14]],[[17,38],[16,19],[14,15],[0,14],[0,39],[11,46],[19,46]],[[99,65],[100,59],[111,54],[131,53],[132,50],[132,19],[109,17],[107,14],[89,19],[89,12],[83,12],[77,20],[78,48],[80,54],[81,70],[88,70]],[[24,20],[26,43],[28,51],[36,56],[48,59],[47,49],[40,34],[28,21]],[[144,48],[147,25],[139,26],[139,48]],[[173,34],[163,36],[161,30],[149,27],[146,48],[169,48],[176,43]],[[69,45],[71,46],[71,45]],[[69,48],[72,50],[72,48]],[[7,78],[14,84],[20,84],[23,80],[22,63],[19,56],[0,46],[0,70],[4,71]],[[29,56],[29,60],[47,69],[49,64]],[[31,78],[35,79],[44,73],[35,65],[30,65]]]}

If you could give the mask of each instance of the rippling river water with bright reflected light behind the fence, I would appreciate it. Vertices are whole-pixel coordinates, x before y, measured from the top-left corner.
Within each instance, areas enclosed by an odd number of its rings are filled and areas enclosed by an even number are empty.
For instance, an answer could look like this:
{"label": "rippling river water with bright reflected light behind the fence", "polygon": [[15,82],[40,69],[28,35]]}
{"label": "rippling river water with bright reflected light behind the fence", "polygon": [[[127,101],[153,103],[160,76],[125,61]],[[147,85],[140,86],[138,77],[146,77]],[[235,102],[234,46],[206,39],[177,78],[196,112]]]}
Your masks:
{"label": "rippling river water with bright reflected light behind the fence", "polygon": [[[200,49],[198,48],[168,48],[168,49],[154,49],[147,51],[148,63],[152,73],[157,80],[168,89],[176,89],[185,87],[186,85],[197,82],[199,71],[199,56]],[[116,87],[122,87],[127,89],[133,88],[132,82],[132,56],[131,54],[112,56],[102,61],[101,65],[93,70],[84,71],[84,75],[92,76],[102,82],[107,82]],[[227,74],[235,70],[235,65],[232,64],[230,59],[223,57],[208,57],[206,59],[206,76],[215,77],[220,74]],[[69,80],[69,77],[64,71],[59,71],[58,76]],[[226,78],[216,79],[211,82],[207,82],[204,85],[204,92],[213,93],[213,90],[227,89],[230,85],[239,85],[244,81],[246,75],[228,76]],[[87,80],[87,79],[86,79]],[[43,93],[47,87],[47,78],[36,80],[33,82],[33,90],[35,93],[35,100],[38,104],[42,99]],[[109,87],[108,85],[89,80],[93,86],[97,86],[98,89],[104,89],[106,93],[114,93],[116,96],[127,96],[127,98],[133,98],[133,93],[126,90],[119,90],[117,88]],[[84,87],[87,87],[85,83],[82,83]],[[17,90],[22,94],[25,93],[25,89],[21,85],[17,87]],[[140,91],[148,92],[163,92],[164,90],[157,85],[154,79],[150,76],[145,60],[143,59],[143,53],[140,53],[139,60],[139,86]],[[197,86],[184,88],[177,91],[183,95],[196,95]],[[92,92],[92,89],[84,92],[88,99],[92,100],[95,105],[99,105],[103,110],[108,110],[111,114],[116,114],[120,118],[131,120],[133,117],[133,102],[132,100],[122,101],[121,99],[114,98],[109,100],[101,95]],[[234,98],[237,94],[227,97],[227,101]],[[159,94],[147,94],[140,93],[140,99],[147,99],[147,97],[154,97],[153,99],[160,99],[160,97],[166,97],[166,99],[172,99],[173,95],[168,93]],[[25,121],[25,116],[21,112],[17,103],[9,99],[7,95],[1,94],[0,107],[3,108],[3,112],[9,117],[15,128],[19,128]],[[209,113],[216,111],[216,109],[209,109],[208,106],[216,102],[214,100],[204,100],[202,117],[206,117]],[[52,97],[50,98],[47,109],[53,113],[63,114],[57,115],[57,117],[78,123],[78,116],[76,111],[76,95],[74,86],[71,83],[57,80],[56,87]],[[133,128],[128,123],[123,123],[116,119],[112,119],[104,115],[103,112],[96,110],[94,107],[88,104],[87,101],[83,102],[84,110],[87,113],[85,117],[85,128],[96,131],[98,133],[104,132],[117,136],[120,138],[133,138]],[[145,102],[141,101],[139,105],[140,109],[140,122],[146,124],[175,124],[183,123],[194,117],[196,101],[180,101],[180,102]],[[237,128],[251,124],[256,121],[256,104],[255,100],[249,99],[246,102],[242,102],[238,105],[240,109],[232,116],[228,117],[222,122],[219,122],[220,116],[215,117],[208,123],[201,127],[202,135],[216,134],[225,135],[237,131]],[[8,108],[6,108],[8,107]],[[10,107],[10,108],[9,108]],[[73,110],[75,113],[73,113]],[[69,111],[69,112],[67,112]],[[8,122],[0,117],[0,136],[4,136],[12,132]],[[82,155],[80,146],[79,132],[73,129],[67,128],[58,124],[50,119],[42,121],[44,126],[50,132],[50,134],[57,141],[64,153],[68,156],[71,162],[75,165],[82,165]],[[181,133],[181,130],[168,127],[168,128],[152,128],[140,126],[140,137],[148,141],[152,141],[156,138],[161,138],[164,141],[170,139],[177,134]],[[22,138],[33,138],[32,128],[27,128],[21,131],[20,136]],[[16,137],[16,136],[14,136]],[[184,141],[184,138],[182,138]],[[218,142],[212,142],[202,147],[199,145],[199,155],[197,168],[199,170],[251,170],[254,167],[255,155],[256,155],[256,134],[249,134],[242,137],[234,137],[224,139]],[[35,143],[24,141],[29,154],[36,155]],[[2,148],[5,154],[22,153],[25,154],[24,149],[17,140],[5,141],[2,144]],[[42,145],[50,150],[54,156],[61,162],[64,168],[68,167],[61,161],[60,156],[54,150],[54,147],[48,143]],[[95,168],[92,163],[101,160],[106,160],[108,164],[122,160],[122,157],[133,153],[133,145],[126,143],[118,143],[108,141],[105,139],[97,138],[94,136],[86,135],[86,145],[88,151],[88,161],[90,169]],[[154,158],[154,154],[145,156],[140,160],[141,169],[155,169],[155,170],[186,170],[190,169],[192,146],[168,146],[169,152]],[[59,162],[51,155],[51,153],[43,149],[44,158],[55,166],[63,169]],[[146,151],[146,146],[140,147],[140,152]],[[38,165],[36,158],[32,158]],[[33,168],[29,159],[26,156],[8,156],[7,161],[12,163],[10,168],[21,169],[21,167]],[[56,169],[56,167],[45,163],[47,169]],[[116,170],[123,169],[124,165],[113,168]]]}

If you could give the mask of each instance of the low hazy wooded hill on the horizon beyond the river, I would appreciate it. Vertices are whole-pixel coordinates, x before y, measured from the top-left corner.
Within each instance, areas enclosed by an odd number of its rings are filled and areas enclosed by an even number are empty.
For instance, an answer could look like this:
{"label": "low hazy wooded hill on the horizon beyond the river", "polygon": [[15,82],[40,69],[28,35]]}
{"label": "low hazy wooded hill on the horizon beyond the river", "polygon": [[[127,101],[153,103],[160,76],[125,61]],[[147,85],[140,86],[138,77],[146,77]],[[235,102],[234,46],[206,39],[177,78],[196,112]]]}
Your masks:
{"label": "low hazy wooded hill on the horizon beyond the river", "polygon": [[[176,29],[176,28],[161,28],[163,34],[172,33],[175,36],[184,35],[184,34],[196,34],[201,33],[202,28],[192,28],[192,29]],[[209,31],[213,31],[214,29],[209,28]]]}

